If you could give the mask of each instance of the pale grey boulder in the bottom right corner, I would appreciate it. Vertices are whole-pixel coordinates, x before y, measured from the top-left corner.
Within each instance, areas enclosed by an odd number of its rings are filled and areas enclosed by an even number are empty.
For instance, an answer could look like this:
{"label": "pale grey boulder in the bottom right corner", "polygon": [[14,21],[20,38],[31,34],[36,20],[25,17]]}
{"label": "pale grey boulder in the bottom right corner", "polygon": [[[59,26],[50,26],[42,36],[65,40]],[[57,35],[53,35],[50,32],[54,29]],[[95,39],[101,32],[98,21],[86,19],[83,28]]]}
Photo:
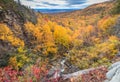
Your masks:
{"label": "pale grey boulder in the bottom right corner", "polygon": [[108,82],[120,82],[120,62],[116,62],[109,67],[106,77]]}

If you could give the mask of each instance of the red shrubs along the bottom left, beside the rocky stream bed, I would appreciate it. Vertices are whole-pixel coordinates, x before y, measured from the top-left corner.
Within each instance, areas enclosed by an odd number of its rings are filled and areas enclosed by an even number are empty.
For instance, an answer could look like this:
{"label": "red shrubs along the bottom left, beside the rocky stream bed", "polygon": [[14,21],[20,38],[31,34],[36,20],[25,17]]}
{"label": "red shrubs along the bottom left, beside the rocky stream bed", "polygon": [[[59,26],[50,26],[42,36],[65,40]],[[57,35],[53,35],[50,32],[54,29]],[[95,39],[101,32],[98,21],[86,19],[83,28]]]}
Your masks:
{"label": "red shrubs along the bottom left, beside the rocky stream bed", "polygon": [[46,66],[33,65],[29,70],[17,71],[12,67],[0,68],[0,82],[58,82],[59,78],[47,78]]}

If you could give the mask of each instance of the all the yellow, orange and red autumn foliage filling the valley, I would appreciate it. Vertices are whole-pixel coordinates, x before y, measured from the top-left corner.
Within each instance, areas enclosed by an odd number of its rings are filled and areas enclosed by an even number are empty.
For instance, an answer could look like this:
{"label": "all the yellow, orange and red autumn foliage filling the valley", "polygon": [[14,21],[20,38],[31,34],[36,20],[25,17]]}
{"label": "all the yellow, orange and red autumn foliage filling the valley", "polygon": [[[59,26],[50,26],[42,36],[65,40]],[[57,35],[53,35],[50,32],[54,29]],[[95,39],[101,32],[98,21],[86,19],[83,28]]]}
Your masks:
{"label": "all the yellow, orange and red autumn foliage filling the valley", "polygon": [[[62,57],[80,70],[109,66],[120,51],[119,14],[92,13],[89,8],[78,14],[36,13],[38,22],[34,24],[0,22],[0,81],[57,82],[58,78],[46,76]],[[102,82],[106,70],[90,71],[81,81]]]}

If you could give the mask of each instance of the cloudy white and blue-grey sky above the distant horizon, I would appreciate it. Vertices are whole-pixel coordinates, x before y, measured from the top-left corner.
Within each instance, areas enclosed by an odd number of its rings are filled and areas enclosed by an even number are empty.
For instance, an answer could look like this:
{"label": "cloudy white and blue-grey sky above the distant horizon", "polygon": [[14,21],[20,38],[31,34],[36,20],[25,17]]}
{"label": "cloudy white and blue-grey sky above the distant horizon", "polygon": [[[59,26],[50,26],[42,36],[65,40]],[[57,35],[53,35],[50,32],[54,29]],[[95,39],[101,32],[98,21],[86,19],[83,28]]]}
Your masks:
{"label": "cloudy white and blue-grey sky above the distant horizon", "polygon": [[21,0],[21,3],[31,8],[40,9],[82,9],[104,1],[108,0]]}

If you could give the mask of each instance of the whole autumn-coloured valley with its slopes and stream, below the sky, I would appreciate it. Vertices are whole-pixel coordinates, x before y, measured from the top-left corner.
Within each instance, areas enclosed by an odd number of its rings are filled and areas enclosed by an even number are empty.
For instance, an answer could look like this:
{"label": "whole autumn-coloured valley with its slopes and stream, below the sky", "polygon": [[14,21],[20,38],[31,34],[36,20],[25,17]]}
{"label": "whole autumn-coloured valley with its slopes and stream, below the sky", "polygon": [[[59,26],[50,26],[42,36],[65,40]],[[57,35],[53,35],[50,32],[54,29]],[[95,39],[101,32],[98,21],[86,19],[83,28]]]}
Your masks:
{"label": "whole autumn-coloured valley with its slopes and stream, below the sky", "polygon": [[72,78],[58,74],[96,68],[71,82],[104,82],[108,67],[120,61],[119,5],[115,0],[71,12],[41,13],[1,0],[0,81],[70,82]]}

